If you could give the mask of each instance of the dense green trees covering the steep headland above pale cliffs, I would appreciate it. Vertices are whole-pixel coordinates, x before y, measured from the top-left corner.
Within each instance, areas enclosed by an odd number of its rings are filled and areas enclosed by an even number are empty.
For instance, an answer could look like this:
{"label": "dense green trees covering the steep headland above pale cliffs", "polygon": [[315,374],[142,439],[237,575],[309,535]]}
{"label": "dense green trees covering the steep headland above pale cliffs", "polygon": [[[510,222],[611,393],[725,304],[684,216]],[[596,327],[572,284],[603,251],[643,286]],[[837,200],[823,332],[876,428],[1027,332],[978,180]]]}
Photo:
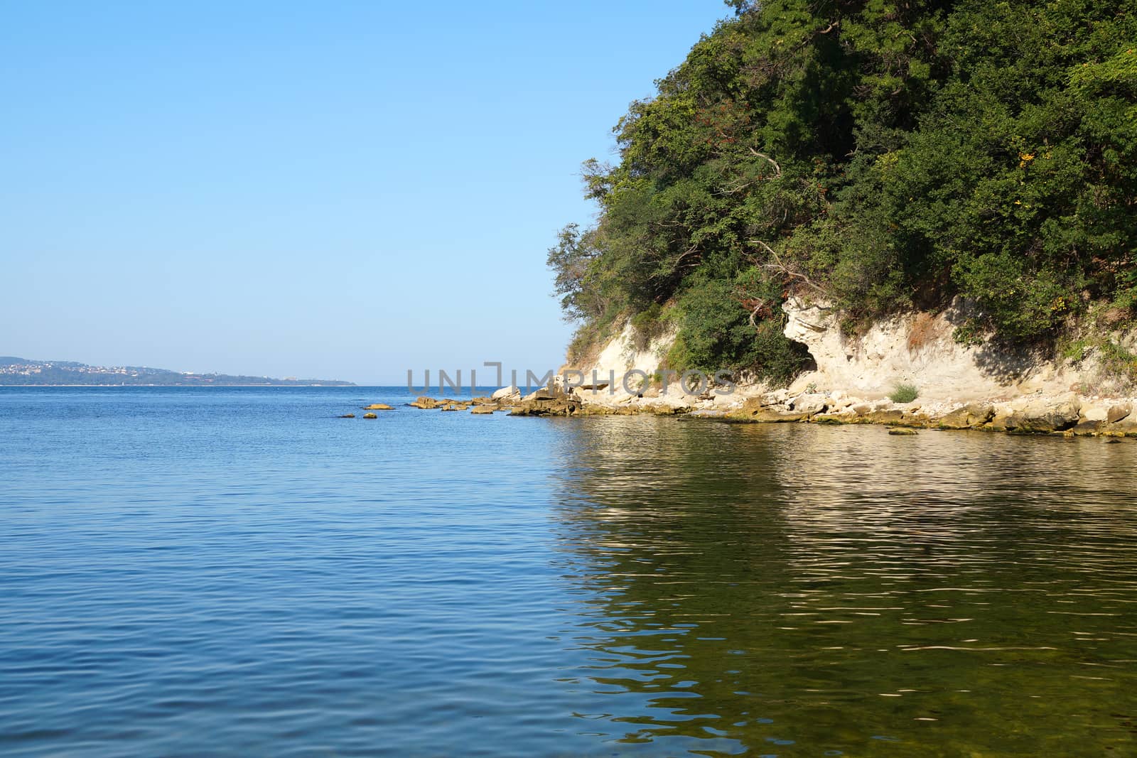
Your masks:
{"label": "dense green trees covering the steep headland above pale cliffs", "polygon": [[785,378],[790,291],[850,323],[963,295],[961,335],[1018,343],[1132,316],[1137,0],[729,5],[584,165],[599,220],[549,264],[586,332],[650,310],[673,367]]}

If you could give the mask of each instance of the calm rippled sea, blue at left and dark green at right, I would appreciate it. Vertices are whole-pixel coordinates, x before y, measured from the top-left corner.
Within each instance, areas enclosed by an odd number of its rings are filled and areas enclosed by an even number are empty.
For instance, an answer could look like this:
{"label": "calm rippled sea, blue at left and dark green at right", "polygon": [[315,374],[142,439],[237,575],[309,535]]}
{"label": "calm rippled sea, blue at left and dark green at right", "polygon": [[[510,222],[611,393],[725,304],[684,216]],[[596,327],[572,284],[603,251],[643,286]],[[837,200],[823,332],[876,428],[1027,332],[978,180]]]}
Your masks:
{"label": "calm rippled sea, blue at left and dark green at right", "polygon": [[0,755],[1137,755],[1132,441],[409,399],[0,389]]}

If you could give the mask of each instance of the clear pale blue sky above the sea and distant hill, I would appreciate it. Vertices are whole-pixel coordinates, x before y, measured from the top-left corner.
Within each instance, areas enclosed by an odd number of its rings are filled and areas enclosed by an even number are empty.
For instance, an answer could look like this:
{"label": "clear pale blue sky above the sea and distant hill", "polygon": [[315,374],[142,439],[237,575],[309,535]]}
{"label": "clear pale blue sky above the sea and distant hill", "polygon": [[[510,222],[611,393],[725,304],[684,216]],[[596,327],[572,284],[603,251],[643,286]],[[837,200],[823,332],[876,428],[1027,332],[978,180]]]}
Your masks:
{"label": "clear pale blue sky above the sea and distant hill", "polygon": [[0,0],[0,355],[556,368],[580,163],[721,0]]}

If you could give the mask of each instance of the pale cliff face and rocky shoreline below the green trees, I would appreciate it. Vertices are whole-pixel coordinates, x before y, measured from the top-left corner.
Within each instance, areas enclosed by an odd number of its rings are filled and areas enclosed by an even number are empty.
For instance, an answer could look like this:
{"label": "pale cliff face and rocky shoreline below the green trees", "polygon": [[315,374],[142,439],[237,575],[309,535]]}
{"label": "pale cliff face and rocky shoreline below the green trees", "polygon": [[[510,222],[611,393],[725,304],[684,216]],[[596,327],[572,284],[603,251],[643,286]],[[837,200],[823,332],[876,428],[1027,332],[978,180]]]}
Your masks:
{"label": "pale cliff face and rocky shoreline below the green trees", "polygon": [[[757,381],[715,384],[706,375],[698,388],[684,388],[682,377],[664,370],[674,334],[645,343],[629,322],[589,359],[562,367],[534,392],[508,386],[488,398],[421,397],[408,405],[511,416],[652,414],[746,424],[880,424],[897,433],[1137,436],[1131,375],[1119,374],[1093,352],[1074,360],[1006,352],[991,342],[961,343],[953,325],[965,318],[965,303],[938,314],[897,315],[856,335],[847,334],[839,314],[823,302],[790,297],[783,310],[786,335],[804,344],[815,364],[788,388]],[[1137,334],[1111,338],[1137,355]],[[908,397],[897,392],[902,386]]]}

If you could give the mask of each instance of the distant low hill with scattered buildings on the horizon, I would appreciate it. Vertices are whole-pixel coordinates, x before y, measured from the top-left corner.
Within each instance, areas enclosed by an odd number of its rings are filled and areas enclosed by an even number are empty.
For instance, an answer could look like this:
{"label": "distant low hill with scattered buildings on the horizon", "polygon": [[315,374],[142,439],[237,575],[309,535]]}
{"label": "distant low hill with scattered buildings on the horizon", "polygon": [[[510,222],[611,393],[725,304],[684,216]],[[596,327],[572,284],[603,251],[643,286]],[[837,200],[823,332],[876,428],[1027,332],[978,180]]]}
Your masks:
{"label": "distant low hill with scattered buildings on the horizon", "polygon": [[72,360],[28,360],[0,356],[0,385],[139,384],[166,386],[355,386],[337,380],[271,378],[231,374],[192,374],[147,366],[88,366]]}

